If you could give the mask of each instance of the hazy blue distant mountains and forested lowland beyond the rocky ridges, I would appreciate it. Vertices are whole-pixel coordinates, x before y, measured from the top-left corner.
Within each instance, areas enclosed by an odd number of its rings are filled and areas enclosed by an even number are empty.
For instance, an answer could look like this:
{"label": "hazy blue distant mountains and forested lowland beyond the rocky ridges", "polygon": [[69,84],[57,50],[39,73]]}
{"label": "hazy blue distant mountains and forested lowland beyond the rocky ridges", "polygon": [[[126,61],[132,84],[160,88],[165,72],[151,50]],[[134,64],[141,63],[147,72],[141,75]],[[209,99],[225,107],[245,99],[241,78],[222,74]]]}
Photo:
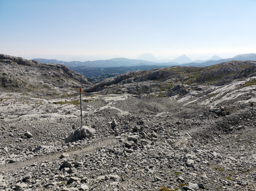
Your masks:
{"label": "hazy blue distant mountains and forested lowland beyond the rocky ridges", "polygon": [[[150,53],[141,55],[138,58],[146,59],[146,56],[150,56],[152,58],[153,55]],[[86,62],[65,62],[58,60],[48,60],[36,58],[33,60],[37,60],[41,63],[56,63],[56,64],[65,64],[68,68],[72,69],[75,72],[78,72],[84,75],[86,78],[89,78],[92,82],[99,82],[105,80],[109,77],[118,76],[120,74],[136,71],[136,70],[150,70],[153,68],[166,68],[175,65],[179,66],[195,66],[195,67],[205,67],[211,66],[214,64],[219,64],[222,62],[229,62],[232,60],[236,61],[256,61],[256,54],[244,54],[244,55],[236,55],[233,58],[228,59],[219,59],[220,57],[215,55],[206,61],[196,60],[190,63],[184,63],[184,61],[189,62],[191,59],[186,55],[181,55],[180,57],[172,60],[177,62],[151,62],[144,60],[132,60],[127,58],[113,58],[109,60],[98,60],[98,61],[86,61]],[[219,60],[215,60],[219,59]],[[184,64],[178,64],[178,62],[183,62]]]}

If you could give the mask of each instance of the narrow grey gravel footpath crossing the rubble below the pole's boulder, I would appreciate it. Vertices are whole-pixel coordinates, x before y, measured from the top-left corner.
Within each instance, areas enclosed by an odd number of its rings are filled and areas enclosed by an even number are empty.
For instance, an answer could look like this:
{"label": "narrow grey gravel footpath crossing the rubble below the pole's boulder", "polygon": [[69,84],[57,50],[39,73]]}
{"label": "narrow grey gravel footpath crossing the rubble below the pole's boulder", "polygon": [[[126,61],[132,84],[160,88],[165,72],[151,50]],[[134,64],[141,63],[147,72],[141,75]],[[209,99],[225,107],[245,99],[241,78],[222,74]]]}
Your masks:
{"label": "narrow grey gravel footpath crossing the rubble below the pole's boulder", "polygon": [[[114,139],[112,137],[109,137],[109,138],[106,138],[106,139],[102,139],[98,142],[93,142],[91,145],[89,145],[87,147],[84,147],[84,148],[81,148],[81,149],[78,149],[78,150],[75,150],[75,151],[68,151],[68,152],[65,152],[65,153],[69,154],[69,157],[72,157],[72,155],[74,155],[74,154],[88,153],[88,152],[91,152],[91,151],[93,151],[97,148],[100,148],[100,147],[109,147],[109,146],[113,145],[116,142],[117,142],[116,139]],[[59,159],[59,156],[61,154],[62,153],[46,154],[46,155],[43,155],[43,156],[34,157],[31,160],[26,160],[26,161],[22,161],[22,162],[15,162],[15,163],[7,163],[5,165],[0,166],[0,172],[14,170],[14,169],[20,168],[21,166],[22,167],[23,166],[31,166],[35,162],[37,162],[39,164],[44,160],[48,160],[48,161],[57,160],[57,159]]]}

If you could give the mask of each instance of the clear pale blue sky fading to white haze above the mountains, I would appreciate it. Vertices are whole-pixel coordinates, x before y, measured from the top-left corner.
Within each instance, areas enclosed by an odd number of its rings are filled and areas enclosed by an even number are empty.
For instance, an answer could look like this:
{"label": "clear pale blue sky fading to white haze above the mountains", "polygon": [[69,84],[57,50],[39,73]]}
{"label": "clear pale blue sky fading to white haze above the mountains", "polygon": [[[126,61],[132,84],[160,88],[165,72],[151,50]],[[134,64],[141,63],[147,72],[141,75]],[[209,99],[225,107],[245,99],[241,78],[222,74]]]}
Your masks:
{"label": "clear pale blue sky fading to white haze above the mountains", "polygon": [[228,58],[256,53],[255,10],[256,0],[0,0],[0,53]]}

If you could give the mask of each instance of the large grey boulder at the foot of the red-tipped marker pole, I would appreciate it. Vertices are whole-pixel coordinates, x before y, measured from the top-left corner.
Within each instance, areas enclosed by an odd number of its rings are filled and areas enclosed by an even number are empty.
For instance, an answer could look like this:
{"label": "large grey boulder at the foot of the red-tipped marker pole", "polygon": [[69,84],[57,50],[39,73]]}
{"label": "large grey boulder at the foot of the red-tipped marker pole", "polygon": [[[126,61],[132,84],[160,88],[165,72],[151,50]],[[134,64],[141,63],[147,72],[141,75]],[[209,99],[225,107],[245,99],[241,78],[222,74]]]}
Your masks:
{"label": "large grey boulder at the foot of the red-tipped marker pole", "polygon": [[73,133],[71,133],[68,137],[65,138],[65,142],[74,142],[82,138],[89,138],[95,134],[95,129],[84,125],[79,129],[76,129]]}

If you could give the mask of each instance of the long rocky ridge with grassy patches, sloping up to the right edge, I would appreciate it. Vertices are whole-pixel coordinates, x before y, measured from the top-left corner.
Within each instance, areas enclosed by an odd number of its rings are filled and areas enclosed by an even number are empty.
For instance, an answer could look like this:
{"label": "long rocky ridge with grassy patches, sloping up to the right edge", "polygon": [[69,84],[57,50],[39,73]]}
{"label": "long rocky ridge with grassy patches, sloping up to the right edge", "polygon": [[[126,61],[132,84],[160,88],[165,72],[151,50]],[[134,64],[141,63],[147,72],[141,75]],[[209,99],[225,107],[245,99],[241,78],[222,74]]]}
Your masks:
{"label": "long rocky ridge with grassy patches, sloping up to the right edge", "polygon": [[180,67],[135,71],[106,79],[87,88],[86,92],[103,94],[131,93],[135,95],[168,91],[167,96],[185,95],[190,88],[173,88],[184,85],[215,85],[223,86],[234,79],[256,75],[256,62],[230,61],[209,67]]}

